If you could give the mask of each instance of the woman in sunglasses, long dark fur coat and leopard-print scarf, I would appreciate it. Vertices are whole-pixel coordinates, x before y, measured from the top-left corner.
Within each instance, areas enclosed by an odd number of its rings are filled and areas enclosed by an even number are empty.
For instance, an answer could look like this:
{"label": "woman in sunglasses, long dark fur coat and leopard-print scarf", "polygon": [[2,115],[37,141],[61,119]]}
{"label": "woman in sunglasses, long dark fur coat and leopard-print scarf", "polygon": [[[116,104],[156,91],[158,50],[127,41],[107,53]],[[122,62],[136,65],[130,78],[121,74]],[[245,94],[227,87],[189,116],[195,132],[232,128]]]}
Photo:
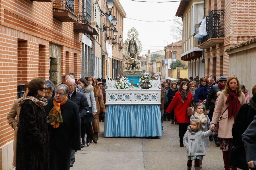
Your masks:
{"label": "woman in sunglasses, long dark fur coat and leopard-print scarf", "polygon": [[47,99],[45,80],[35,78],[28,84],[28,94],[18,102],[16,169],[49,169],[49,133],[44,106]]}

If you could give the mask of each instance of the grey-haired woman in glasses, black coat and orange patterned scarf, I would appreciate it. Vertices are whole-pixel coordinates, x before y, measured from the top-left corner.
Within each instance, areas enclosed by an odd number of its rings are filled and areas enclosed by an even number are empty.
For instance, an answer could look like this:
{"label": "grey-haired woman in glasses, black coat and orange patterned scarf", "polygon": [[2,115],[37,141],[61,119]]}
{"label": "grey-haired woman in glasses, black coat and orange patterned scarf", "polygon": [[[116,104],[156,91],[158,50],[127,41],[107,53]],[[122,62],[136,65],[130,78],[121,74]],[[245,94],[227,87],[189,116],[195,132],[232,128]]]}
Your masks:
{"label": "grey-haired woman in glasses, black coat and orange patterned scarf", "polygon": [[78,106],[67,97],[69,88],[60,84],[45,106],[50,133],[50,169],[68,170],[71,149],[80,150],[80,116]]}

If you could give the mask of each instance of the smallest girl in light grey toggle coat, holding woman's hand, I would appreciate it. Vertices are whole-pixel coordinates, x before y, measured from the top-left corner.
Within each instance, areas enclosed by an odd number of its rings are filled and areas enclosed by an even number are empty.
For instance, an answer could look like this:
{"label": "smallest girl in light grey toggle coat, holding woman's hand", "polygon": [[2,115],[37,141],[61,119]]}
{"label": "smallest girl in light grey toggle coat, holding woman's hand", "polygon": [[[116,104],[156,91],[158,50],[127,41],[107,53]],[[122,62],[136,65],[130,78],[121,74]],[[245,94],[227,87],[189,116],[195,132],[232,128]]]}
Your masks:
{"label": "smallest girl in light grey toggle coat, holding woman's hand", "polygon": [[195,170],[199,170],[199,162],[202,159],[202,156],[206,155],[203,138],[212,135],[214,128],[210,127],[210,130],[207,132],[204,132],[203,129],[202,122],[198,119],[193,119],[184,135],[183,144],[187,149],[188,159],[187,170],[191,170],[193,160],[195,160]]}

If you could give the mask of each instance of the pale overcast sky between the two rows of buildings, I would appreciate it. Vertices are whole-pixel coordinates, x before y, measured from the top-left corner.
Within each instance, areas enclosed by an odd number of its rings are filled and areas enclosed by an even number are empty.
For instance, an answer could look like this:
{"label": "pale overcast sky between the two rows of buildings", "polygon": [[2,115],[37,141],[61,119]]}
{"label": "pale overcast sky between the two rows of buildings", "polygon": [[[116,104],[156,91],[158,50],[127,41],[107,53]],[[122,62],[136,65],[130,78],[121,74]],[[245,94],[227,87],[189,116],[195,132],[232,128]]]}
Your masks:
{"label": "pale overcast sky between the two rows of buildings", "polygon": [[[169,3],[146,3],[135,2],[131,0],[119,0],[123,6],[127,17],[137,20],[170,20],[173,19],[180,2]],[[151,1],[151,0],[145,0]],[[163,0],[154,0],[163,1]],[[142,22],[129,18],[124,18],[124,39],[127,39],[127,31],[135,27],[139,31],[139,39],[142,42],[143,50],[141,54],[158,51],[164,49],[164,45],[176,42],[170,35],[170,25],[173,25],[173,21],[168,22]],[[165,41],[164,41],[165,40]],[[155,47],[156,46],[156,47]],[[145,52],[146,51],[146,52]]]}

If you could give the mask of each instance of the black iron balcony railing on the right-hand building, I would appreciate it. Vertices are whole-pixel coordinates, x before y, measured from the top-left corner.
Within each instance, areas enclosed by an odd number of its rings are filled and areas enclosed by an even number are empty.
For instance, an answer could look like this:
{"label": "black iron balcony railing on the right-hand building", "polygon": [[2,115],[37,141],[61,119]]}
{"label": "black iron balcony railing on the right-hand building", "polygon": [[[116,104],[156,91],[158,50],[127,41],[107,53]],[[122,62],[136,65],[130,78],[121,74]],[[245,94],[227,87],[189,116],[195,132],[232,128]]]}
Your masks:
{"label": "black iron balcony railing on the right-hand building", "polygon": [[[206,31],[208,35],[198,40],[202,44],[210,38],[224,37],[224,10],[212,10],[207,16]],[[201,23],[199,24],[201,25]]]}

